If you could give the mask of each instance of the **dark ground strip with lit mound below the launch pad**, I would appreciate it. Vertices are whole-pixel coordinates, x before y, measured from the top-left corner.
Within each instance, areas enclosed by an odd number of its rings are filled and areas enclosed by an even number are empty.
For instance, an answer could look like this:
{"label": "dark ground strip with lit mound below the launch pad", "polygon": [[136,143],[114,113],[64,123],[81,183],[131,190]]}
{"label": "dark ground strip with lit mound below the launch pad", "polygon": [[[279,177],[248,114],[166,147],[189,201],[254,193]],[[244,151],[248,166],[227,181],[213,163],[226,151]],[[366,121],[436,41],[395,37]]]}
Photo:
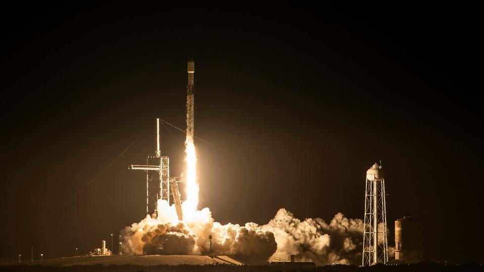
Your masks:
{"label": "dark ground strip with lit mound below the launch pad", "polygon": [[150,255],[150,256],[78,256],[44,261],[26,262],[0,266],[0,272],[7,271],[484,271],[482,265],[437,265],[417,264],[372,267],[357,267],[351,265],[326,265],[316,267],[311,263],[285,262],[266,265],[243,265],[233,256],[216,256],[211,258],[204,255]]}

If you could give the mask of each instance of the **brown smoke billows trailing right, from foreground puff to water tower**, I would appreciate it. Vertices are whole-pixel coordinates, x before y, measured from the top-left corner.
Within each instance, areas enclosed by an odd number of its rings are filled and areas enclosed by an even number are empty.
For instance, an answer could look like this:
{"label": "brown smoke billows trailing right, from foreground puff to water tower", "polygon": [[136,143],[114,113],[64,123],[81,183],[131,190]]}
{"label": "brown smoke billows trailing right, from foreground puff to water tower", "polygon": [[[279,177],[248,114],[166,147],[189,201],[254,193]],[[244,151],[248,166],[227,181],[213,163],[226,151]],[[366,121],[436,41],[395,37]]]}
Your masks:
{"label": "brown smoke billows trailing right, from foreground puff to water tower", "polygon": [[329,224],[320,218],[300,221],[280,209],[263,229],[274,233],[277,242],[274,256],[295,255],[296,260],[314,261],[318,265],[361,262],[363,221],[360,219],[347,219],[338,213]]}

